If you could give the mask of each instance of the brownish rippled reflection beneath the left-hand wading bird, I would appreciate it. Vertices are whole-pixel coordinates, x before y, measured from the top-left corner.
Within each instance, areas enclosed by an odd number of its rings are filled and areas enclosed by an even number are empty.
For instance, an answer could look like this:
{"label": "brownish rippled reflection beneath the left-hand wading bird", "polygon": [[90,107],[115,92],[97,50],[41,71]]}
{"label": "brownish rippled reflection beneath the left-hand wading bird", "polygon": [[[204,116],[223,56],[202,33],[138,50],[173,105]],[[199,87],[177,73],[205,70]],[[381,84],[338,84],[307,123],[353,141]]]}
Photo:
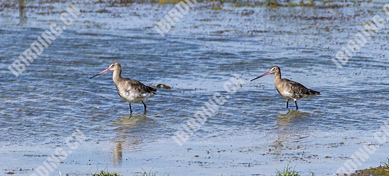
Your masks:
{"label": "brownish rippled reflection beneath the left-hand wading bird", "polygon": [[[112,121],[117,126],[116,139],[113,147],[113,164],[121,166],[123,162],[123,152],[141,152],[142,148],[142,133],[138,131],[144,126],[147,117],[144,114],[126,114]],[[139,124],[139,123],[143,123]]]}

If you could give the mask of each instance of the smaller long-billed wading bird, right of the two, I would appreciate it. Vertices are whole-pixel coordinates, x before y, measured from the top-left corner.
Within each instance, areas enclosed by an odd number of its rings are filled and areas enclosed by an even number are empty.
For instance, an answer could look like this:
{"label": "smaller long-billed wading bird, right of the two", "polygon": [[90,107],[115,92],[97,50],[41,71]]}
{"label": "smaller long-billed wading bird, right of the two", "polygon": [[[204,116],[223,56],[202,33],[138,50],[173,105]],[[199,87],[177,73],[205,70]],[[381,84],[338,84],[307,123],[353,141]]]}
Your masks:
{"label": "smaller long-billed wading bird, right of the two", "polygon": [[289,100],[294,100],[294,104],[296,104],[296,109],[298,109],[298,107],[297,107],[297,100],[298,99],[308,98],[308,97],[312,97],[314,95],[321,95],[320,92],[308,89],[298,82],[291,81],[291,80],[285,79],[285,78],[281,79],[281,70],[280,70],[279,66],[273,66],[265,74],[258,76],[257,78],[251,79],[250,81],[261,78],[262,76],[265,76],[268,74],[274,74],[275,88],[277,89],[278,93],[280,93],[280,95],[282,97],[287,99],[286,108],[288,108]]}

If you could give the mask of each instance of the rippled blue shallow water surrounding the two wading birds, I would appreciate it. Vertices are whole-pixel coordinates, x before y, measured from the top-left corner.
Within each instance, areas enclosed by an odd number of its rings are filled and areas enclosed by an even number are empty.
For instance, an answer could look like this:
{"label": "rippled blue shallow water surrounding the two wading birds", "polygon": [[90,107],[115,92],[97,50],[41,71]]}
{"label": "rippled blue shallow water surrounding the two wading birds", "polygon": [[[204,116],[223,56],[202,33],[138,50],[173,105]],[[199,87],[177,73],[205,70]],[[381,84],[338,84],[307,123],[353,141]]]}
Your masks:
{"label": "rippled blue shallow water surrounding the two wading birds", "polygon": [[[0,155],[6,160],[0,169],[21,167],[20,174],[31,174],[45,158],[25,155],[50,155],[79,129],[88,140],[58,167],[61,172],[93,173],[97,165],[124,175],[141,167],[170,175],[270,175],[291,162],[302,173],[334,174],[361,143],[374,143],[373,133],[389,121],[389,27],[343,68],[331,61],[363,22],[385,15],[383,4],[330,9],[224,3],[210,10],[209,3],[198,3],[164,37],[150,27],[174,4],[83,12],[18,78],[7,67],[52,22],[60,23],[59,14],[28,11],[37,18],[20,27],[18,11],[2,9]],[[53,11],[67,5],[54,3]],[[130,114],[112,72],[89,79],[113,61],[121,64],[123,77],[172,89],[158,89],[145,102],[147,114],[142,104],[133,104]],[[249,81],[273,65],[280,66],[283,78],[322,95],[298,100],[298,110],[286,109],[272,75]],[[245,82],[242,87],[177,145],[172,135],[215,92],[228,95],[223,85],[233,74]],[[359,169],[377,166],[387,149],[380,145]]]}

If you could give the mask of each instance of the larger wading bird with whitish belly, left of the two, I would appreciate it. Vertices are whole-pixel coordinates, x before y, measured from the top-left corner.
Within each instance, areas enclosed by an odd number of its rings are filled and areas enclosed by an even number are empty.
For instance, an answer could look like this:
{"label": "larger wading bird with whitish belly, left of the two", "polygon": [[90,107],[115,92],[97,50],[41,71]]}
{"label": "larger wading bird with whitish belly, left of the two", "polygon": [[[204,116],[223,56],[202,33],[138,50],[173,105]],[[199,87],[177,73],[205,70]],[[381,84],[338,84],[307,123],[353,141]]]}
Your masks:
{"label": "larger wading bird with whitish belly, left of the two", "polygon": [[[143,101],[156,95],[154,92],[157,91],[157,89],[146,86],[137,80],[122,78],[120,76],[121,67],[118,62],[112,62],[107,69],[96,74],[95,76],[111,70],[114,71],[112,80],[115,83],[117,93],[124,101],[130,103],[130,113],[132,113],[131,103],[139,102],[143,103],[146,113],[146,105]],[[91,78],[95,76],[92,76]]]}

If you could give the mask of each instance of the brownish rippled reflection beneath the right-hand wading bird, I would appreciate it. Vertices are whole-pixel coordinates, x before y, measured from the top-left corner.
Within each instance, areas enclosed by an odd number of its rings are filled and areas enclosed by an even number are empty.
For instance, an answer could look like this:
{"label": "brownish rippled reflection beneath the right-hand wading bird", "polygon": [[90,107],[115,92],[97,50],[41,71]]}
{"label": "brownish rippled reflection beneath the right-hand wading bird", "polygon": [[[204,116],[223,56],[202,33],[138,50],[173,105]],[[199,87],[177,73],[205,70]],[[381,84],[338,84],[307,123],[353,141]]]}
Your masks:
{"label": "brownish rippled reflection beneath the right-hand wading bird", "polygon": [[[295,136],[299,136],[296,140],[306,138],[305,134],[299,129],[299,124],[304,124],[307,120],[306,117],[310,116],[308,112],[301,112],[294,109],[289,109],[286,114],[280,113],[279,117],[276,117],[277,120],[277,140],[274,141],[274,147],[276,151],[281,151],[286,149],[283,143],[287,143],[289,140]],[[296,123],[294,123],[296,122]]]}

